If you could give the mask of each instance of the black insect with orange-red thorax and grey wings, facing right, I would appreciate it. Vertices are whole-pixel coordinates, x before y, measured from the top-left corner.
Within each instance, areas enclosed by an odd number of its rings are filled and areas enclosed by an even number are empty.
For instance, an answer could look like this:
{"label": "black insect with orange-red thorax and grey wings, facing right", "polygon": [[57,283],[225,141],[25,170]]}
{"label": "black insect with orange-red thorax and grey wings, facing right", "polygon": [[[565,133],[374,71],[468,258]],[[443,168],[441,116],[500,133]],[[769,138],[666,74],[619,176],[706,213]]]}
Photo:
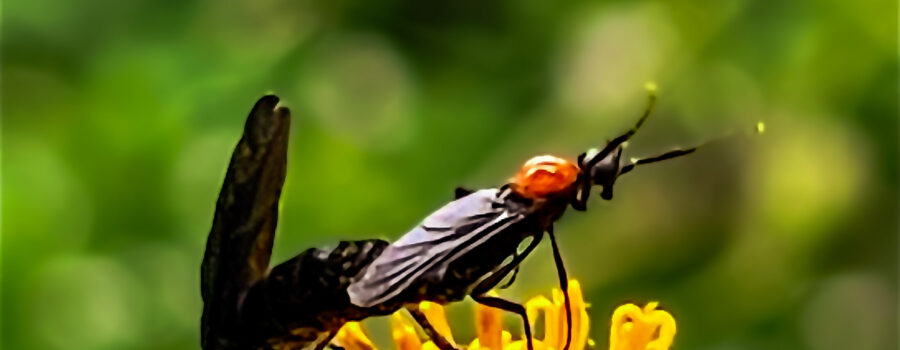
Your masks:
{"label": "black insect with orange-red thorax and grey wings, facing right", "polygon": [[[610,141],[600,151],[578,158],[577,165],[553,156],[529,160],[516,178],[499,189],[466,194],[437,210],[419,226],[388,246],[350,284],[351,303],[360,307],[398,305],[414,307],[423,300],[448,303],[467,295],[478,303],[518,314],[525,325],[525,337],[532,349],[531,331],[525,308],[511,301],[487,295],[540,243],[544,233],[550,237],[562,290],[567,290],[553,223],[571,205],[585,210],[590,190],[601,185],[603,199],[612,199],[616,179],[636,165],[689,154],[690,149],[674,150],[657,157],[623,162],[622,146],[650,115],[650,103],[638,123],[625,134]],[[529,241],[530,242],[527,242]],[[519,251],[518,247],[527,242]],[[565,294],[567,320],[571,324],[571,305]],[[415,315],[415,310],[411,310]],[[427,320],[416,319],[426,330]],[[449,343],[435,332],[428,332],[441,349]],[[566,346],[571,341],[567,330]]]}

